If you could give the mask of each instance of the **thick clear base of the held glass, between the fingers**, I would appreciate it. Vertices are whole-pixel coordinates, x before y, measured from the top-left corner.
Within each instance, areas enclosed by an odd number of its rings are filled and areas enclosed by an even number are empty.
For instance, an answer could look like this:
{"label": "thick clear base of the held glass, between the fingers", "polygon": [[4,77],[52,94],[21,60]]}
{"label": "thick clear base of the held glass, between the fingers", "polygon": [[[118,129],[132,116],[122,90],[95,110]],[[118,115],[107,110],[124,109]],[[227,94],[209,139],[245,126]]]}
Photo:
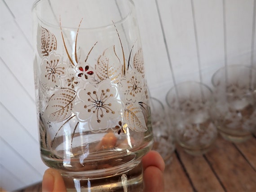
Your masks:
{"label": "thick clear base of the held glass, between the fingers", "polygon": [[61,172],[68,192],[142,192],[141,162],[125,173],[90,175],[88,172]]}

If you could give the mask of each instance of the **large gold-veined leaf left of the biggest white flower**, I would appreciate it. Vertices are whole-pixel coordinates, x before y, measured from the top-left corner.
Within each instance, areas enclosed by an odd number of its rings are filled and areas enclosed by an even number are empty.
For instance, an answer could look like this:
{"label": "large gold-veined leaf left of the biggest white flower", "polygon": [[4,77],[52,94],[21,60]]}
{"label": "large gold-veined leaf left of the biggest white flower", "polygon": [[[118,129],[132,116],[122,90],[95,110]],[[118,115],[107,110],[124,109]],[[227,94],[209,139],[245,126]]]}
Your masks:
{"label": "large gold-veined leaf left of the biggest white flower", "polygon": [[75,91],[62,88],[51,96],[44,111],[44,118],[51,122],[62,122],[71,116]]}

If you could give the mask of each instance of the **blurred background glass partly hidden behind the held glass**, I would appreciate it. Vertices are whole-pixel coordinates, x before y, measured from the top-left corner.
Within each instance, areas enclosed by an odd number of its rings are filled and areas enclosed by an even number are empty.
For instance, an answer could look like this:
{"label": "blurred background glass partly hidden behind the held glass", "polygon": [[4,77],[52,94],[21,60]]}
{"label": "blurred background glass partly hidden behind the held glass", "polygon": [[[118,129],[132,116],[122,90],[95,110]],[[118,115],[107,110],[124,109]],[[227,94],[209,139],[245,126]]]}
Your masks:
{"label": "blurred background glass partly hidden behind the held glass", "polygon": [[150,97],[151,121],[154,133],[153,150],[160,153],[166,165],[172,161],[172,154],[175,150],[173,130],[166,115],[163,103]]}

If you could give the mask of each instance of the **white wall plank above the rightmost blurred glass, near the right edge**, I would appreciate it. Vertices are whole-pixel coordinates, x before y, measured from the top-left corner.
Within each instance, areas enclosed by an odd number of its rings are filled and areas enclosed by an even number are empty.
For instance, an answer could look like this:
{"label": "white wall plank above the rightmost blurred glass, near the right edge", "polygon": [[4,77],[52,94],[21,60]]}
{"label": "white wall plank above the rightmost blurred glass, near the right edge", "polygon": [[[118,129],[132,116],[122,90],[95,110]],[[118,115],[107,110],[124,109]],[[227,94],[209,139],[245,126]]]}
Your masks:
{"label": "white wall plank above the rightmost blurred glass, near the right edge", "polygon": [[227,64],[250,65],[253,0],[225,0]]}

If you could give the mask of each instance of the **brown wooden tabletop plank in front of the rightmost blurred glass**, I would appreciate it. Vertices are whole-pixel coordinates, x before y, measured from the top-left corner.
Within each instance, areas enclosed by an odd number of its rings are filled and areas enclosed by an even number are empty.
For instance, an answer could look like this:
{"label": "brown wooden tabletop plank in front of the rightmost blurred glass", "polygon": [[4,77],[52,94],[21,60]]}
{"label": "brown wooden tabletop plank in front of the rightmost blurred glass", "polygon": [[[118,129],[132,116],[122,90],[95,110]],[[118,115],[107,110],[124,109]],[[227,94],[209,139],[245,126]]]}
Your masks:
{"label": "brown wooden tabletop plank in front of the rightmost blurred glass", "polygon": [[256,191],[256,171],[234,144],[219,138],[215,150],[206,154],[206,157],[225,191]]}

